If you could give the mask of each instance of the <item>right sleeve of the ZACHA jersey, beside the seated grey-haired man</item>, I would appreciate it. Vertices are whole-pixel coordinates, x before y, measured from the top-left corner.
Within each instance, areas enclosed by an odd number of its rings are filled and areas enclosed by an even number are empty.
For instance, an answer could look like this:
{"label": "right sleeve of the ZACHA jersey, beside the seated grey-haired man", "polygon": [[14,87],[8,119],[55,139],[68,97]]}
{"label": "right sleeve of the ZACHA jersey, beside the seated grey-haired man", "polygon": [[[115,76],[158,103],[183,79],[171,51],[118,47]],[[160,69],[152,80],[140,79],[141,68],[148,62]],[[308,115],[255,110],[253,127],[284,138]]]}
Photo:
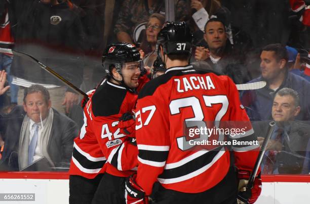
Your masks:
{"label": "right sleeve of the ZACHA jersey, beside the seated grey-haired man", "polygon": [[[257,136],[255,136],[249,117],[240,103],[237,87],[230,78],[228,78],[227,90],[230,106],[230,128],[243,128],[239,134],[230,135],[230,138],[236,141],[235,145],[232,144],[235,165],[238,169],[252,171],[259,154]],[[249,145],[243,145],[245,143]]]}

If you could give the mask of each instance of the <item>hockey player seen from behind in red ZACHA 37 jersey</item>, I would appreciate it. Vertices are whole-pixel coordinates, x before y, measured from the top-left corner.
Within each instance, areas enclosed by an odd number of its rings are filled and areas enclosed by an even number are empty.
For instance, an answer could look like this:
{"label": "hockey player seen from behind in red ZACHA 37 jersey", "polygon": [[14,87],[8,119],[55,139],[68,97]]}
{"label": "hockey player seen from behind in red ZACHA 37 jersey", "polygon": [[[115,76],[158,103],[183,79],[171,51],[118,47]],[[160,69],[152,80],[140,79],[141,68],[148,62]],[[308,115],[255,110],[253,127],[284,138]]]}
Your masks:
{"label": "hockey player seen from behind in red ZACHA 37 jersey", "polygon": [[[154,195],[156,203],[236,203],[238,179],[248,179],[254,167],[258,144],[237,143],[229,146],[230,151],[216,145],[210,150],[190,145],[184,136],[184,123],[190,128],[207,127],[207,121],[220,121],[219,125],[242,121],[245,132],[234,139],[257,140],[232,80],[188,65],[191,39],[185,22],[167,22],[158,35],[158,56],[167,70],[139,92],[135,115],[139,164],[126,181],[127,203],[148,202],[156,181],[161,184]],[[257,177],[252,196],[246,198],[249,203],[259,196],[260,185]]]}

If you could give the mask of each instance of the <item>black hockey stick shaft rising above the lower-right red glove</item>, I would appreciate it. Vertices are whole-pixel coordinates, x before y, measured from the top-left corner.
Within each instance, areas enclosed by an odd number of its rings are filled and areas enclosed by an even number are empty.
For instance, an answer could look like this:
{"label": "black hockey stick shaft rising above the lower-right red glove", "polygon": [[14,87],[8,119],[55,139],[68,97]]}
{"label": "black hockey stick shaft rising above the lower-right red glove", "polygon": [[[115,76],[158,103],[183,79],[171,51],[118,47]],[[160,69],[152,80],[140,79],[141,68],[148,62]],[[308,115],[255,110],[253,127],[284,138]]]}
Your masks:
{"label": "black hockey stick shaft rising above the lower-right red glove", "polygon": [[265,139],[264,139],[264,141],[263,141],[263,143],[261,145],[261,148],[260,148],[257,160],[256,160],[255,165],[254,165],[254,169],[252,171],[252,174],[250,175],[249,182],[247,184],[247,188],[249,188],[249,189],[251,189],[253,187],[254,179],[255,179],[256,174],[258,172],[258,169],[259,169],[259,166],[261,164],[262,158],[263,158],[263,156],[265,154],[268,141],[269,141],[270,137],[272,136],[272,134],[274,132],[274,126],[275,125],[276,125],[275,121],[272,121],[272,122],[269,123],[268,131],[267,131],[267,136],[265,137]]}

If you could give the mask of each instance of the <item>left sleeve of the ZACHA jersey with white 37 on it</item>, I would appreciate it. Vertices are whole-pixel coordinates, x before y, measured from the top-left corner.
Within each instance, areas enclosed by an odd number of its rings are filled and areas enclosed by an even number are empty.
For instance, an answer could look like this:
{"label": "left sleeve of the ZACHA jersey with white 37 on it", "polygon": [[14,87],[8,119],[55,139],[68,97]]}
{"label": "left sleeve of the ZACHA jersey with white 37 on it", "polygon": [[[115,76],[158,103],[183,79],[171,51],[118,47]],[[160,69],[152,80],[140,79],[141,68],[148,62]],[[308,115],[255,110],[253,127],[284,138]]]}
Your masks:
{"label": "left sleeve of the ZACHA jersey with white 37 on it", "polygon": [[170,149],[169,123],[161,112],[161,103],[150,97],[138,99],[136,109],[139,150],[136,182],[147,195],[151,193],[158,175],[163,172]]}

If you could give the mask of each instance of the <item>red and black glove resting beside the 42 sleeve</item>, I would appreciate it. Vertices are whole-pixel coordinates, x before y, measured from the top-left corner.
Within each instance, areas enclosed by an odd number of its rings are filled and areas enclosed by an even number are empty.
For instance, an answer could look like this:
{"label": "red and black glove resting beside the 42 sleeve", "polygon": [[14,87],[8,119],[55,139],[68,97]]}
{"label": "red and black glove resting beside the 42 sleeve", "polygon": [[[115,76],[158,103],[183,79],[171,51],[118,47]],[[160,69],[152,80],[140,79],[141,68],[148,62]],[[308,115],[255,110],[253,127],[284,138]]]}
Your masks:
{"label": "red and black glove resting beside the 42 sleeve", "polygon": [[136,137],[136,121],[132,113],[126,112],[122,115],[119,128],[121,133],[129,137]]}

